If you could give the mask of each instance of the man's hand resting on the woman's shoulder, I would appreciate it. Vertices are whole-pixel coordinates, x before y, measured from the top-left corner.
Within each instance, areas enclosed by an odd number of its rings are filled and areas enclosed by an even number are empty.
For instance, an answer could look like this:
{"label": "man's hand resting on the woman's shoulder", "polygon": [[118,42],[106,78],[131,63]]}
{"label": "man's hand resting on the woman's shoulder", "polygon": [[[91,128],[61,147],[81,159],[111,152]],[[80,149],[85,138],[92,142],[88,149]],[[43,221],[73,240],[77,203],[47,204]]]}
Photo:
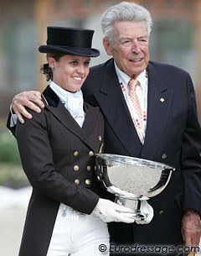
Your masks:
{"label": "man's hand resting on the woman's shoulder", "polygon": [[34,112],[41,112],[40,108],[34,103],[38,104],[39,107],[44,107],[39,91],[23,91],[13,97],[12,108],[20,123],[24,123],[23,117],[32,118],[32,115],[27,112],[25,107],[32,109]]}

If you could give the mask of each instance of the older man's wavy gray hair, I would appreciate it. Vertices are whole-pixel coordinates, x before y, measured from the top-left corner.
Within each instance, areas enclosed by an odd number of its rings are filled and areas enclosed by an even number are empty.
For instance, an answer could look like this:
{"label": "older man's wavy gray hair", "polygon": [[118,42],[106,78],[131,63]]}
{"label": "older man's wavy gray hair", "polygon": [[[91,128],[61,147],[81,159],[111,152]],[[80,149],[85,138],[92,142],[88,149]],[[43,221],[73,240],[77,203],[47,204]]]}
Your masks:
{"label": "older man's wavy gray hair", "polygon": [[122,2],[106,9],[101,16],[104,37],[113,43],[113,30],[116,21],[144,22],[148,35],[152,30],[152,17],[149,11],[137,3]]}

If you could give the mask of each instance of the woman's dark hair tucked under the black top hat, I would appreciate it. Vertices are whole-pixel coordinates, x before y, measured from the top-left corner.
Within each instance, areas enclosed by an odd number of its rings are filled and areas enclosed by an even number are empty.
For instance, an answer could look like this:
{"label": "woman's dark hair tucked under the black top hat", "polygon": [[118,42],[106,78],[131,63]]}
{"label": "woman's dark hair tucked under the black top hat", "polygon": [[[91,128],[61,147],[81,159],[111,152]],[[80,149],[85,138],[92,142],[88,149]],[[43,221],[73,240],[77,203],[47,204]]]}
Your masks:
{"label": "woman's dark hair tucked under the black top hat", "polygon": [[[57,62],[59,62],[60,58],[63,57],[64,53],[48,53],[47,54],[47,60],[49,57],[54,58]],[[45,63],[40,66],[40,73],[44,74],[46,76],[46,81],[53,80],[53,71],[52,68],[49,66],[49,63]]]}

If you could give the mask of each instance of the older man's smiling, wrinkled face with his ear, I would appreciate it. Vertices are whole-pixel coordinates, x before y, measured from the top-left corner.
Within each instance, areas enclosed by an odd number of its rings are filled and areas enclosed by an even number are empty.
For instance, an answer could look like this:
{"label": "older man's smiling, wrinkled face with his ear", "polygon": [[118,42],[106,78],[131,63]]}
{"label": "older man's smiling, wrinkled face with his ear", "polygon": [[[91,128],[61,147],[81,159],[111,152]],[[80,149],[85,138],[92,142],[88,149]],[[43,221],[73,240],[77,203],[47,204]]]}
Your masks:
{"label": "older man's smiling, wrinkled face with his ear", "polygon": [[149,61],[146,25],[133,21],[114,24],[114,42],[103,39],[107,55],[112,55],[118,68],[136,77],[147,68]]}

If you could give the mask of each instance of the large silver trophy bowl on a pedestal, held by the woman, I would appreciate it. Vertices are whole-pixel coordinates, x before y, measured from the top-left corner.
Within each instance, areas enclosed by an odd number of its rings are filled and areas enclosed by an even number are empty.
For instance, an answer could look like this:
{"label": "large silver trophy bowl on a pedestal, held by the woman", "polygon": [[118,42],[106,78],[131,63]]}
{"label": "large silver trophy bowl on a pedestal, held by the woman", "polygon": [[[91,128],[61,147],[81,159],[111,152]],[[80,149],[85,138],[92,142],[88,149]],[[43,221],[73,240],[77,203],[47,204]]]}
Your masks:
{"label": "large silver trophy bowl on a pedestal, held by the woman", "polygon": [[[117,154],[95,154],[96,175],[116,196],[116,203],[129,207],[144,220],[141,201],[157,196],[168,185],[173,166]],[[114,189],[115,188],[115,189]]]}

